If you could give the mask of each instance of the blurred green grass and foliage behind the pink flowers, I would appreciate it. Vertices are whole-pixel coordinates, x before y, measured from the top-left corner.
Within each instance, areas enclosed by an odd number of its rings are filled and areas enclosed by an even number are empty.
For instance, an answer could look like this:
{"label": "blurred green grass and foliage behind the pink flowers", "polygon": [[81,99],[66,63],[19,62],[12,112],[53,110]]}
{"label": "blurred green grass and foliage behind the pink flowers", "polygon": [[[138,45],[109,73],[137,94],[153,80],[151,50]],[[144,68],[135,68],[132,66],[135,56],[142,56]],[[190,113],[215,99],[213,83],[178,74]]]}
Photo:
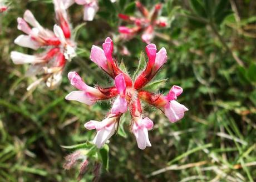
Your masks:
{"label": "blurred green grass and foliage behind the pink flowers", "polygon": [[[76,70],[88,85],[112,84],[89,59],[92,44],[101,46],[107,36],[114,39],[114,57],[134,73],[146,44],[136,36],[119,41],[118,13],[138,16],[130,0],[99,1],[92,22],[83,22],[82,6],[68,9],[76,29],[77,54],[66,67],[55,90],[40,85],[33,93],[24,77],[28,65],[14,65],[12,50],[33,54],[14,45],[21,34],[17,17],[26,9],[43,27],[52,29],[55,13],[51,0],[12,0],[0,14],[0,181],[76,181],[77,165],[62,168],[71,151],[61,145],[92,140],[95,131],[83,124],[102,120],[110,103],[87,107],[68,102],[73,88],[67,72]],[[256,180],[256,1],[254,0],[166,0],[140,1],[147,8],[163,3],[161,16],[168,27],[156,29],[152,43],[165,47],[168,62],[157,79],[155,92],[167,93],[172,85],[184,92],[179,102],[189,108],[185,117],[170,123],[160,110],[145,106],[154,121],[149,132],[152,147],[140,150],[129,132],[129,114],[123,119],[125,133],[110,139],[109,170],[101,181],[255,181]],[[122,23],[123,24],[123,23]],[[130,55],[122,55],[127,47]],[[89,167],[90,168],[90,167]],[[88,170],[81,181],[91,181]]]}

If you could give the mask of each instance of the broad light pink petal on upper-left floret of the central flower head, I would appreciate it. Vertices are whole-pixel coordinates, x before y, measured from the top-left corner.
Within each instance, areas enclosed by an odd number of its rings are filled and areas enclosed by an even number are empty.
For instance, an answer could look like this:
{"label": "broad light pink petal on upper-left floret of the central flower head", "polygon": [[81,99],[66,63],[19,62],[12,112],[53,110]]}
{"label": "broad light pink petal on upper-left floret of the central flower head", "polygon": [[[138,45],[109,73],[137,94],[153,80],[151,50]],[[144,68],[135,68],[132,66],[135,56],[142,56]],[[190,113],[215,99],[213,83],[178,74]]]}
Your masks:
{"label": "broad light pink petal on upper-left floret of the central flower head", "polygon": [[108,72],[109,68],[107,66],[107,58],[105,56],[104,50],[100,47],[92,46],[90,59],[95,62],[99,67]]}

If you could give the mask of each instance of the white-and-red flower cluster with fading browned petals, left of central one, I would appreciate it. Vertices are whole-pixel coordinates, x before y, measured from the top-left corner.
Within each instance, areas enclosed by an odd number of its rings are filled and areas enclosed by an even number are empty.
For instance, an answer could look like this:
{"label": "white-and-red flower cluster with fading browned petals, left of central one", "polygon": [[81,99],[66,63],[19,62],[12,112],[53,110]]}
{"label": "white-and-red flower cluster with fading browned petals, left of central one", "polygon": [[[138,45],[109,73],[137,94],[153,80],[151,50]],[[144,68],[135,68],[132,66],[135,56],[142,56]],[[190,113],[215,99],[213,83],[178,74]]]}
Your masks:
{"label": "white-and-red flower cluster with fading browned petals, left of central one", "polygon": [[42,75],[27,88],[28,90],[42,81],[46,82],[48,88],[55,88],[61,82],[66,60],[76,56],[76,45],[71,39],[71,26],[65,4],[62,0],[53,0],[53,3],[57,19],[53,32],[43,28],[29,10],[24,13],[23,18],[17,18],[18,29],[25,34],[18,36],[14,43],[34,50],[40,48],[44,50],[35,55],[11,52],[14,64],[31,64],[27,75]]}

